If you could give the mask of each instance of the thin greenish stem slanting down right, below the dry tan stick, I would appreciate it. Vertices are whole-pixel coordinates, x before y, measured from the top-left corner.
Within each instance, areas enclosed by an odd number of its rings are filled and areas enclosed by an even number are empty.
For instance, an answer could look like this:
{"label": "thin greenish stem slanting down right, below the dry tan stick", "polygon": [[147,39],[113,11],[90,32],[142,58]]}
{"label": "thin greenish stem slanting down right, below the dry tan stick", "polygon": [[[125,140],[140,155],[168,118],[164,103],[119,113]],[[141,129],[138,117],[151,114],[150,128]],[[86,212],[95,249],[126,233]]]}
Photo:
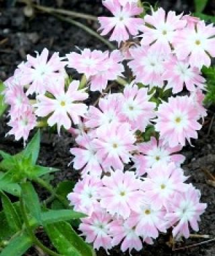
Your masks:
{"label": "thin greenish stem slanting down right, below the dry tan stick", "polygon": [[87,26],[85,26],[81,22],[77,22],[77,21],[75,21],[71,18],[64,18],[61,15],[57,15],[57,14],[54,14],[54,13],[51,13],[51,14],[54,15],[54,17],[58,18],[59,20],[62,20],[64,22],[68,22],[70,24],[73,24],[73,25],[77,26],[78,28],[81,28],[81,29],[85,30],[87,33],[91,34],[91,36],[95,36],[95,38],[99,39],[101,42],[106,44],[111,50],[116,49],[114,44],[112,44],[111,42],[109,42],[108,40],[106,40],[105,38],[100,36],[99,34],[97,34],[97,32],[95,32],[91,28],[88,28]]}

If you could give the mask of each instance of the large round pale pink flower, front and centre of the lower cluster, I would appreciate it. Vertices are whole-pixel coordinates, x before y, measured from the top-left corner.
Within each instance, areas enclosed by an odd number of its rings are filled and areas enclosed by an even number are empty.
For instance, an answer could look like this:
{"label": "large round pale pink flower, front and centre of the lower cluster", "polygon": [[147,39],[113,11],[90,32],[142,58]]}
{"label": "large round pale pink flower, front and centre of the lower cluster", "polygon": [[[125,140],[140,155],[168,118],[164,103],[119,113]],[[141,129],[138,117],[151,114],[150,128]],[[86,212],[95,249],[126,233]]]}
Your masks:
{"label": "large round pale pink flower, front and centre of the lower cluster", "polygon": [[103,177],[103,187],[100,189],[100,205],[107,212],[126,219],[132,210],[136,210],[142,199],[139,190],[140,180],[134,172],[116,170],[110,177]]}

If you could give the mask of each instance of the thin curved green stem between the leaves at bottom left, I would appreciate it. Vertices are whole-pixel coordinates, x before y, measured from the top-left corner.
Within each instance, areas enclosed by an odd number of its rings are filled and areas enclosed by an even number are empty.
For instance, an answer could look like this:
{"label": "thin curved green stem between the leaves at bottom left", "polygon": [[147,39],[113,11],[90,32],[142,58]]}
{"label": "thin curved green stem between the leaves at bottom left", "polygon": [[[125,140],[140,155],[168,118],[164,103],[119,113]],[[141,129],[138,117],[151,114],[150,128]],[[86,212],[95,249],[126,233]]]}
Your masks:
{"label": "thin curved green stem between the leaves at bottom left", "polygon": [[26,208],[25,208],[25,205],[24,205],[24,201],[22,199],[22,197],[20,197],[20,208],[21,208],[21,212],[22,212],[22,217],[23,217],[23,220],[24,220],[24,224],[26,225],[26,230],[29,234],[29,236],[32,238],[32,242],[37,245],[38,247],[40,247],[40,249],[42,249],[42,251],[44,251],[44,253],[47,253],[48,255],[51,255],[51,256],[62,256],[58,253],[55,253],[54,251],[48,249],[48,247],[44,246],[39,240],[38,238],[35,236],[29,222],[28,222],[28,216],[27,216],[27,213],[26,213]]}

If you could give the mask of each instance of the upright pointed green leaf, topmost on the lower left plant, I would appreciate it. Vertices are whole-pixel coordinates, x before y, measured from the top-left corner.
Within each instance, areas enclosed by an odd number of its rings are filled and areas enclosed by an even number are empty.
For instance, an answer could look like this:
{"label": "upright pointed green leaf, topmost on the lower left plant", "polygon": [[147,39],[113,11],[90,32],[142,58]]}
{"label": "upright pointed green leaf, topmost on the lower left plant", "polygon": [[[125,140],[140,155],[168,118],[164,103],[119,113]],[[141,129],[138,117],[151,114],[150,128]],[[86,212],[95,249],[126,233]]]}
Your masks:
{"label": "upright pointed green leaf, topmost on the lower left plant", "polygon": [[26,148],[17,154],[16,156],[22,156],[22,158],[32,158],[32,164],[36,164],[38,160],[38,154],[40,152],[40,130],[34,135],[32,140],[28,143]]}

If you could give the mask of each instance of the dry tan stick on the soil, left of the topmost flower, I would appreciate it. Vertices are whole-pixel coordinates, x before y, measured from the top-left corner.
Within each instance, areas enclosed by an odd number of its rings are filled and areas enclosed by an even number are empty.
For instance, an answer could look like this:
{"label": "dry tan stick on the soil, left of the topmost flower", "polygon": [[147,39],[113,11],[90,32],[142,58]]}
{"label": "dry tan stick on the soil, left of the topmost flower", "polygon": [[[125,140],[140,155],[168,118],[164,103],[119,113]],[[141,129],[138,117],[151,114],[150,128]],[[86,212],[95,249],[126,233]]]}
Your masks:
{"label": "dry tan stick on the soil, left of the topmost flower", "polygon": [[76,11],[68,11],[65,9],[56,9],[56,8],[52,8],[52,7],[46,7],[43,5],[33,5],[33,7],[35,7],[36,9],[39,9],[40,11],[45,11],[47,13],[59,13],[59,14],[72,16],[73,18],[81,18],[81,19],[85,19],[85,20],[97,21],[97,17],[90,15],[90,14],[79,13]]}

